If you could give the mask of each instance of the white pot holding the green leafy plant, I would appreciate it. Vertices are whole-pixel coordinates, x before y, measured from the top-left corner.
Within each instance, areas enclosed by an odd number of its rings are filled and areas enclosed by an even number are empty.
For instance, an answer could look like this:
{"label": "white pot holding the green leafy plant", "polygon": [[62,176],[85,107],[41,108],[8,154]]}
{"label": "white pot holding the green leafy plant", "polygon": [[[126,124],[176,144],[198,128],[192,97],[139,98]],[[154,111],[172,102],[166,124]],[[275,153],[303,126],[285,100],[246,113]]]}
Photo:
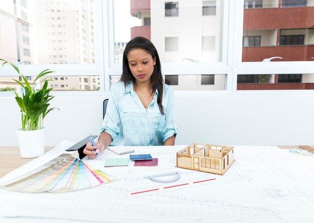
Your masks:
{"label": "white pot holding the green leafy plant", "polygon": [[22,158],[33,158],[45,153],[45,127],[40,130],[22,131],[17,129]]}

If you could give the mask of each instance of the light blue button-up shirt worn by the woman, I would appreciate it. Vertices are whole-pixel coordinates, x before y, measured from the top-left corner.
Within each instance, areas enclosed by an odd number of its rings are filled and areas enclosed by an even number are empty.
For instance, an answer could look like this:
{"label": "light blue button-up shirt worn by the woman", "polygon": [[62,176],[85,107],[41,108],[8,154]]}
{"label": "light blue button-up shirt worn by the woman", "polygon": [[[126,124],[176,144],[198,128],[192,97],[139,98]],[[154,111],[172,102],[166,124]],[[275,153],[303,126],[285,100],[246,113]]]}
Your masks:
{"label": "light blue button-up shirt worn by the woman", "polygon": [[156,90],[146,111],[133,83],[125,88],[123,82],[118,82],[112,87],[101,129],[111,135],[111,146],[161,146],[177,134],[174,92],[164,85],[165,116],[160,112],[157,96]]}

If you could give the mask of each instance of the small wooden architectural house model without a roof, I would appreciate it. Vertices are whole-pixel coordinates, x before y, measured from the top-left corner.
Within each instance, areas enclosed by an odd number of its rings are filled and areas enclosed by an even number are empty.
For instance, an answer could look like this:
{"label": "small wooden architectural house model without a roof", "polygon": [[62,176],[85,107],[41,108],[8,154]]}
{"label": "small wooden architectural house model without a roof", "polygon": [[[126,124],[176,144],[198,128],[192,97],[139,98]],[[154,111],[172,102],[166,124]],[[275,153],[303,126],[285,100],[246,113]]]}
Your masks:
{"label": "small wooden architectural house model without a roof", "polygon": [[234,162],[234,148],[194,143],[177,153],[177,166],[223,175]]}

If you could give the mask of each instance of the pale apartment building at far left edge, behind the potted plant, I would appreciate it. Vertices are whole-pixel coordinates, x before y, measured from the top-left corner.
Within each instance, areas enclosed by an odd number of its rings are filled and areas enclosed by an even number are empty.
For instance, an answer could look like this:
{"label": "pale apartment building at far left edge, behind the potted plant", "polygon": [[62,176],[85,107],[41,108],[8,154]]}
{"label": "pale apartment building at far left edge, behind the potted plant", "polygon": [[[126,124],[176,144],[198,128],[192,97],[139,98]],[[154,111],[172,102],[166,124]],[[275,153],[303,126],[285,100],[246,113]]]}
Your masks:
{"label": "pale apartment building at far left edge, behind the potted plant", "polygon": [[[30,64],[33,61],[31,8],[26,0],[5,0],[0,4],[0,58],[15,64]],[[19,77],[0,77],[0,88],[20,90],[20,85],[13,79],[19,80]],[[31,77],[27,79],[33,80]]]}

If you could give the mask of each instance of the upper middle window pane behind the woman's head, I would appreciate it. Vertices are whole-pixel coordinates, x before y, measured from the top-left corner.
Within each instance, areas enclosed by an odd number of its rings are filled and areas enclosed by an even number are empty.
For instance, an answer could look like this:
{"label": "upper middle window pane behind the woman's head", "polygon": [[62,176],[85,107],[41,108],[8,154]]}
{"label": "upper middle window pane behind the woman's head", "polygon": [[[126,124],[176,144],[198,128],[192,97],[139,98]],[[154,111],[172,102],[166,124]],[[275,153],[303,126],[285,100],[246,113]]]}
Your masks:
{"label": "upper middle window pane behind the woman's head", "polygon": [[221,2],[115,0],[115,63],[122,62],[120,54],[124,49],[117,43],[127,43],[136,36],[154,44],[162,63],[180,63],[186,58],[198,62],[221,61]]}

